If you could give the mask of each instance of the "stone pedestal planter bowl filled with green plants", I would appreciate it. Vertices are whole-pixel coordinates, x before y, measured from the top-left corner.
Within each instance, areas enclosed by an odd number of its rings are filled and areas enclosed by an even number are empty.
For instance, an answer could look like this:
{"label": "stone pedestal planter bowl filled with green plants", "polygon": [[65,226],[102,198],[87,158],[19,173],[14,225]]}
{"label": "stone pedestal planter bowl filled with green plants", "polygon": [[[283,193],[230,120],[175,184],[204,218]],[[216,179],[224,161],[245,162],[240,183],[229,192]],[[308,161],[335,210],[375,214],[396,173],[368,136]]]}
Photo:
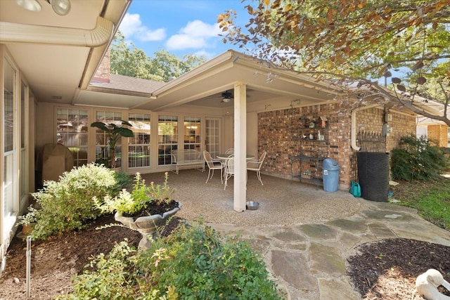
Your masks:
{"label": "stone pedestal planter bowl filled with green plants", "polygon": [[105,197],[99,204],[102,211],[115,213],[114,219],[143,235],[139,248],[147,249],[156,238],[158,227],[181,209],[181,203],[172,199],[174,189],[169,187],[169,173],[165,172],[162,185],[146,182],[141,174],[134,176],[133,190],[122,190],[117,197]]}

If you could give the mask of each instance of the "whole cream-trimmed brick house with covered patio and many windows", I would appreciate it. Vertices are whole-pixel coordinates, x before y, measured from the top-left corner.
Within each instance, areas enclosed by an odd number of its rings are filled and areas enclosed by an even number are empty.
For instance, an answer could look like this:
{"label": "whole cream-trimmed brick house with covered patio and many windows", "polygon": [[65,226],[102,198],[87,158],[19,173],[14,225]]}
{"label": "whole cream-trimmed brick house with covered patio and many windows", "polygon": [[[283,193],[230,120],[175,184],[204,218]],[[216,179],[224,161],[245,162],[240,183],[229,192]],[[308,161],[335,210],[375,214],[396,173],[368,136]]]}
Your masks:
{"label": "whole cream-trimmed brick house with covered patio and many windows", "polygon": [[[44,145],[63,143],[75,166],[94,162],[106,145],[92,122],[134,124],[135,137],[117,145],[129,174],[171,169],[174,149],[214,156],[235,148],[236,211],[245,210],[245,154],[266,150],[262,173],[291,179],[300,171],[293,157],[321,145],[338,162],[339,187],[347,189],[357,178],[358,133],[384,136],[382,150],[389,152],[416,132],[412,112],[376,104],[345,110],[335,101],[338,87],[236,51],[167,83],[110,74],[110,37],[131,1],[72,2],[72,15],[57,18],[47,6],[31,13],[0,1],[1,270],[17,217],[41,184]],[[101,41],[86,41],[94,32]],[[221,101],[226,91],[233,94],[229,103]],[[306,135],[307,120],[314,133]]]}

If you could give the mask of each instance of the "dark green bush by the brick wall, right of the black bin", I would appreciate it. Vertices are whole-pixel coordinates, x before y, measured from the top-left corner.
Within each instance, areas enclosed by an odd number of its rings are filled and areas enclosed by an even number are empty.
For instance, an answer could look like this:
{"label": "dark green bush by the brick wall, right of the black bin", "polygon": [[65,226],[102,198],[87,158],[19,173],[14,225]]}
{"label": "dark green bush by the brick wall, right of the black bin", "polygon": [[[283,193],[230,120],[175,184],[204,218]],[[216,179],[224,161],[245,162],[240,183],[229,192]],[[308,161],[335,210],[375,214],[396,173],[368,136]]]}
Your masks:
{"label": "dark green bush by the brick wall, right of the black bin", "polygon": [[448,162],[439,147],[430,145],[425,136],[403,136],[400,146],[391,152],[394,180],[430,180],[438,178]]}

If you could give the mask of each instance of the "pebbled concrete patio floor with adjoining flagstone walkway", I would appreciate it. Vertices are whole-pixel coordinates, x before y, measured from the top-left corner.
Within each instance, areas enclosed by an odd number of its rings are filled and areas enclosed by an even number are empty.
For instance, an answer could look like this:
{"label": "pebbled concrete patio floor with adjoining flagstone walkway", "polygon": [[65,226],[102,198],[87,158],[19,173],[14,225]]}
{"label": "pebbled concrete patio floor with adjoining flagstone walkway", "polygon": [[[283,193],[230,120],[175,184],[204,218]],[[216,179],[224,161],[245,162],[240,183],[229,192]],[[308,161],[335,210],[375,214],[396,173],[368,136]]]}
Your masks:
{"label": "pebbled concrete patio floor with adjoining flagstone walkway", "polygon": [[[416,210],[387,202],[354,198],[347,191],[326,193],[316,185],[265,176],[261,185],[249,172],[247,200],[255,211],[233,210],[233,179],[224,190],[219,172],[205,184],[207,172],[169,173],[174,198],[183,207],[176,216],[204,221],[222,233],[240,233],[264,257],[288,299],[361,299],[346,275],[347,257],[359,244],[404,237],[450,247],[448,231],[432,225]],[[162,183],[164,174],[143,174]]]}

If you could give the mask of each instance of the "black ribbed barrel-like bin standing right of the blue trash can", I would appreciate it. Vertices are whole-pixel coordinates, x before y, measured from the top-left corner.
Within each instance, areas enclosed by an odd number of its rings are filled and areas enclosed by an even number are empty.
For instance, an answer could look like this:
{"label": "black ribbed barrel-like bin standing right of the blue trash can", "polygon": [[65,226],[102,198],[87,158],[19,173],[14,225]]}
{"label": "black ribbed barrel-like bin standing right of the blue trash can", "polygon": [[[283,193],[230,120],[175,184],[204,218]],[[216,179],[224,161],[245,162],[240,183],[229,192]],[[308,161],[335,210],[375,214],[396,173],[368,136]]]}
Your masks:
{"label": "black ribbed barrel-like bin standing right of the blue trash can", "polygon": [[358,181],[361,197],[387,202],[389,192],[389,153],[357,152]]}

